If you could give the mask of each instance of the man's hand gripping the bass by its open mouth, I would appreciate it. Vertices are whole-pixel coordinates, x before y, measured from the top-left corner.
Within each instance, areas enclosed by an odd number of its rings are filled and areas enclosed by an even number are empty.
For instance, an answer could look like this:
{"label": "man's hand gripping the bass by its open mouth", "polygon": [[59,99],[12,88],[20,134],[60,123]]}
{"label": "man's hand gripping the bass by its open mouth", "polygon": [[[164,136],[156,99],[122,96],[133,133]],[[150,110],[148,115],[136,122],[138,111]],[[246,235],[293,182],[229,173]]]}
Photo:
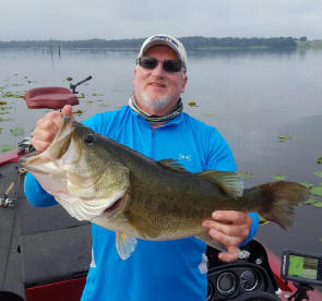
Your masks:
{"label": "man's hand gripping the bass by its open mouth", "polygon": [[72,106],[67,105],[61,111],[49,112],[37,121],[32,139],[32,144],[37,150],[44,152],[50,146],[58,129],[62,124],[63,115],[72,116]]}

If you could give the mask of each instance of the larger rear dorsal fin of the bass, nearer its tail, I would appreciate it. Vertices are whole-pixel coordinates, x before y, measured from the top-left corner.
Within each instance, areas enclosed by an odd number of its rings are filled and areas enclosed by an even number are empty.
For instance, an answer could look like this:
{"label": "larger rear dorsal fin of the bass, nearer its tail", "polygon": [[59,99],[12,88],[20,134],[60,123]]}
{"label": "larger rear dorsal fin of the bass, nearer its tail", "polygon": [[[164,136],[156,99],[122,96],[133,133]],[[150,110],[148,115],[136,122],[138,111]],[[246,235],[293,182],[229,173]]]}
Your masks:
{"label": "larger rear dorsal fin of the bass, nearer its tail", "polygon": [[218,185],[223,191],[235,197],[242,196],[243,182],[241,177],[235,172],[205,170],[198,172],[196,176]]}

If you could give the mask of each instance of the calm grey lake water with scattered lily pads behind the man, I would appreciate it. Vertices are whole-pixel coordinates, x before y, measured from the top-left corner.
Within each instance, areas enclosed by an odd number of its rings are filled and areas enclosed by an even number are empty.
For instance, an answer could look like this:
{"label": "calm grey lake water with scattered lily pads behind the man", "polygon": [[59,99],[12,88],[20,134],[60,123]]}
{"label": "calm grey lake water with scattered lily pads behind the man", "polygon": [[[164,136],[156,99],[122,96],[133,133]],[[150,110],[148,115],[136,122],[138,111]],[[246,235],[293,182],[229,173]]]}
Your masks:
{"label": "calm grey lake water with scattered lily pads behind the man", "polygon": [[[47,110],[29,110],[23,95],[38,86],[69,86],[88,75],[79,87],[85,98],[75,108],[83,120],[96,111],[114,110],[128,103],[132,93],[135,52],[62,51],[52,56],[41,50],[0,51],[0,146],[15,144],[29,134]],[[290,181],[322,178],[317,159],[322,157],[322,51],[293,52],[191,52],[184,110],[216,127],[231,146],[240,172],[253,173],[246,186],[273,181],[283,174]],[[189,101],[198,107],[189,107]],[[0,119],[0,120],[1,120]],[[4,119],[4,120],[3,120]],[[12,129],[24,129],[15,136]],[[279,142],[285,134],[290,139]],[[322,253],[322,208],[301,206],[296,226],[283,231],[265,225],[257,238],[277,254],[284,249]]]}

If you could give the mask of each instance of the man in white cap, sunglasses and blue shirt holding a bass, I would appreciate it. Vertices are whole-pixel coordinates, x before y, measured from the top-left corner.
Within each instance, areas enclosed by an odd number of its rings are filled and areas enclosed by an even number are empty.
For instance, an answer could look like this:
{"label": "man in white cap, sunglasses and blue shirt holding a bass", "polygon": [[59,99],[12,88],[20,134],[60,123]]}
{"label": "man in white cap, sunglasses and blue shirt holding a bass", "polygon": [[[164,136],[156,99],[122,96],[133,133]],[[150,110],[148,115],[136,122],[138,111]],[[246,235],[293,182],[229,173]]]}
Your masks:
{"label": "man in white cap, sunglasses and blue shirt holding a bass", "polygon": [[[229,146],[217,132],[182,112],[180,95],[187,85],[187,55],[183,45],[167,35],[147,38],[134,70],[134,93],[129,106],[95,115],[84,122],[155,160],[174,158],[187,170],[235,171]],[[47,113],[37,122],[33,145],[45,150],[62,122],[61,112]],[[25,182],[27,198],[35,206],[56,204],[31,174]],[[255,214],[214,212],[202,226],[226,250],[223,261],[238,258],[238,246],[257,229]],[[206,273],[200,266],[206,245],[195,238],[138,242],[135,252],[122,261],[115,246],[115,232],[92,225],[93,258],[82,300],[165,301],[205,300]]]}

